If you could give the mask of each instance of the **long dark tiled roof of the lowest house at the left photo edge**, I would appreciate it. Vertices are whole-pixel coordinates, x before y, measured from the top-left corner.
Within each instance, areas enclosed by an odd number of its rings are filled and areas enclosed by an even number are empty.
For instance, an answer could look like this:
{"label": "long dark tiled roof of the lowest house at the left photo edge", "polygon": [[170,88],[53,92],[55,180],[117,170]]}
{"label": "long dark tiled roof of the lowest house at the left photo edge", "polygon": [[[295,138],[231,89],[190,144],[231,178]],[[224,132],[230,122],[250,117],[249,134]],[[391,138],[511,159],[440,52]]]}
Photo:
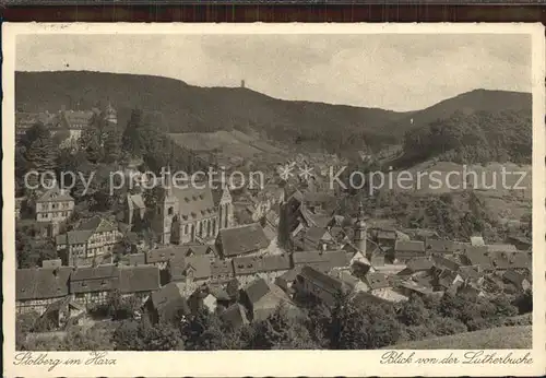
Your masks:
{"label": "long dark tiled roof of the lowest house at the left photo edge", "polygon": [[47,299],[69,294],[72,268],[36,268],[15,271],[15,300]]}

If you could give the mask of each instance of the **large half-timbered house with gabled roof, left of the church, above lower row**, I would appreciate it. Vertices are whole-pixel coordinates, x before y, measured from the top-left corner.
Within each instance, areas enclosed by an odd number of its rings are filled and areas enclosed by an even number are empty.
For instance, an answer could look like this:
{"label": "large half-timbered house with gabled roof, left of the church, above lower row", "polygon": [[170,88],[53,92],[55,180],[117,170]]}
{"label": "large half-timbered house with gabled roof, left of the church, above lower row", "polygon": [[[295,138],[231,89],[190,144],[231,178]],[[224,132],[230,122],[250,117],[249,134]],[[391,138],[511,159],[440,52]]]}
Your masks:
{"label": "large half-timbered house with gabled roof, left of the church, above lower row", "polygon": [[114,248],[121,238],[114,222],[95,216],[82,222],[74,231],[57,235],[56,244],[67,265],[85,267],[111,263]]}

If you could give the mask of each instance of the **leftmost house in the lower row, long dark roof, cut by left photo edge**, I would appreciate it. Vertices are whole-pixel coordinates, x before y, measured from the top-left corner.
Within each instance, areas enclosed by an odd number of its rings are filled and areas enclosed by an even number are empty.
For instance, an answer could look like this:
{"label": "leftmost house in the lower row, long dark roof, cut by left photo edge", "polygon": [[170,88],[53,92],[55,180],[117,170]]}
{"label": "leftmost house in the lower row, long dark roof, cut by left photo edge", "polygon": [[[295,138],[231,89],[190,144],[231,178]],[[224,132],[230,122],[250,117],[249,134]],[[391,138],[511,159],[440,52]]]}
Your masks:
{"label": "leftmost house in the lower row, long dark roof, cut by left photo edge", "polygon": [[67,297],[71,273],[69,267],[15,270],[16,312],[41,315],[48,306]]}

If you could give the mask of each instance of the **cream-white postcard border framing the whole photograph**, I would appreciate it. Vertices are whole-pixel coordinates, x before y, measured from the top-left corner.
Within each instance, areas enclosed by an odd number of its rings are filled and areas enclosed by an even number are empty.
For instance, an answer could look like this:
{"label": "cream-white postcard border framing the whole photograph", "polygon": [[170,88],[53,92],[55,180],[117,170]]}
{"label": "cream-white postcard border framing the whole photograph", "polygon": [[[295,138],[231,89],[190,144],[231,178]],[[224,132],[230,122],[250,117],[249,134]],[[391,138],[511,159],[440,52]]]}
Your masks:
{"label": "cream-white postcard border framing the whole photograph", "polygon": [[[221,351],[221,352],[109,352],[115,365],[85,364],[87,352],[47,352],[48,358],[81,358],[82,365],[15,366],[14,257],[14,70],[17,34],[529,34],[533,64],[533,349],[529,365],[381,364],[385,351]],[[517,47],[514,47],[517,48]],[[3,375],[8,377],[244,377],[244,376],[530,376],[545,373],[545,38],[541,24],[38,24],[2,25],[3,86]],[[455,79],[454,79],[455,80]],[[412,351],[408,351],[411,353]],[[467,351],[413,351],[422,357],[443,358]],[[487,351],[506,355],[510,351]],[[38,352],[34,352],[37,354]]]}

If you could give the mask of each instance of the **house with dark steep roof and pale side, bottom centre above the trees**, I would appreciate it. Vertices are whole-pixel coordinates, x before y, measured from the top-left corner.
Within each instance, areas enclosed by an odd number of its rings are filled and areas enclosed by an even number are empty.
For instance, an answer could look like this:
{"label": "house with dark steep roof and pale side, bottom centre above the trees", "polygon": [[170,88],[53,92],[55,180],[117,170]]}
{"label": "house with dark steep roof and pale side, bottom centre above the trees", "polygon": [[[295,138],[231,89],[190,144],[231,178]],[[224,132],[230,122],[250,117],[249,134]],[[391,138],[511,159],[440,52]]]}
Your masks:
{"label": "house with dark steep roof and pale side, bottom centre above the trees", "polygon": [[288,295],[263,279],[251,282],[241,291],[241,303],[248,310],[249,319],[253,321],[268,319],[278,306],[286,306],[290,312],[296,312]]}

